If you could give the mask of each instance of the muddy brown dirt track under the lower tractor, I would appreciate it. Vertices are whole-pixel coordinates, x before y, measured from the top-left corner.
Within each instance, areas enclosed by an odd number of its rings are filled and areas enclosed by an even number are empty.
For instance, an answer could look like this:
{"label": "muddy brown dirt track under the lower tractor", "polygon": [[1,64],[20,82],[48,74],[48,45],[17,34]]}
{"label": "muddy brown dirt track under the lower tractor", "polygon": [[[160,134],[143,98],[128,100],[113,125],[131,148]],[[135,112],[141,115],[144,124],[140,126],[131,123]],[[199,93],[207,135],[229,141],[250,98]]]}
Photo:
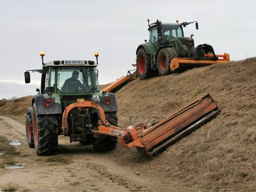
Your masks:
{"label": "muddy brown dirt track under the lower tractor", "polygon": [[0,135],[22,142],[15,146],[21,157],[13,157],[13,161],[25,165],[0,169],[0,190],[13,186],[17,191],[35,192],[160,191],[153,176],[137,175],[132,167],[115,162],[111,152],[97,153],[92,145],[70,143],[69,138],[59,136],[57,155],[38,157],[27,145],[23,124],[4,116],[0,116],[0,124]]}

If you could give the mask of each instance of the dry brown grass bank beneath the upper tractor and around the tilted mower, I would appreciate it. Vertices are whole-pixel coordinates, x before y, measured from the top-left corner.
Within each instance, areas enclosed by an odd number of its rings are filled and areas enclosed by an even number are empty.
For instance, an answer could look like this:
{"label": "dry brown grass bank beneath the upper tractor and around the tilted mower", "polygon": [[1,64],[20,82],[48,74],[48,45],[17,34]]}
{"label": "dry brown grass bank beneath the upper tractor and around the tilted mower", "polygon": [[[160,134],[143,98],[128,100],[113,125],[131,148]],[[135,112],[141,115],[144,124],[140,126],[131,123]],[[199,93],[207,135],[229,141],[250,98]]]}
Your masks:
{"label": "dry brown grass bank beneath the upper tractor and around the tilted mower", "polygon": [[[116,92],[122,127],[128,125],[129,116],[132,124],[145,122],[150,116],[169,116],[207,92],[221,113],[157,157],[120,145],[113,156],[141,174],[154,175],[168,186],[166,191],[254,191],[255,82],[256,58],[130,82]],[[25,116],[30,101],[31,96],[7,101],[0,111]]]}

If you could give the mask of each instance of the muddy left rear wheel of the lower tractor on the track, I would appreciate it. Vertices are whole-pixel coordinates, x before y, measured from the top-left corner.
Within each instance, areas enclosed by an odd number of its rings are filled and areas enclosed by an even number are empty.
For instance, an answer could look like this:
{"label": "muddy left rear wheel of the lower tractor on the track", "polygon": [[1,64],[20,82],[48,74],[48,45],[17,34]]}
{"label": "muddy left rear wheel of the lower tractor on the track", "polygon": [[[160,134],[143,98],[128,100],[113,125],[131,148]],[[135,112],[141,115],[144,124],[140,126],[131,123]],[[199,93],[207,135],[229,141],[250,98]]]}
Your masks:
{"label": "muddy left rear wheel of the lower tractor on the track", "polygon": [[38,156],[55,154],[58,148],[58,123],[55,115],[37,115],[33,105],[33,137]]}

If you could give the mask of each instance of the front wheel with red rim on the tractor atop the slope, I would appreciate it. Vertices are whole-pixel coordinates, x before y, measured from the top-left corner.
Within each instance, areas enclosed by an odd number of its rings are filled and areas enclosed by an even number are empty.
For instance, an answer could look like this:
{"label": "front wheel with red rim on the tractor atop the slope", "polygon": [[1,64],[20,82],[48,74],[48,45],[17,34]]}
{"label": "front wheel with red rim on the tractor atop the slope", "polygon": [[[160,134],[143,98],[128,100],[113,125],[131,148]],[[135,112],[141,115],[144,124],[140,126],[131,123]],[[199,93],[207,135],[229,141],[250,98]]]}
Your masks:
{"label": "front wheel with red rim on the tractor atop the slope", "polygon": [[176,49],[173,49],[171,47],[165,47],[159,51],[157,57],[157,68],[160,75],[164,76],[171,73],[171,60],[177,57],[179,57],[178,52],[176,51]]}

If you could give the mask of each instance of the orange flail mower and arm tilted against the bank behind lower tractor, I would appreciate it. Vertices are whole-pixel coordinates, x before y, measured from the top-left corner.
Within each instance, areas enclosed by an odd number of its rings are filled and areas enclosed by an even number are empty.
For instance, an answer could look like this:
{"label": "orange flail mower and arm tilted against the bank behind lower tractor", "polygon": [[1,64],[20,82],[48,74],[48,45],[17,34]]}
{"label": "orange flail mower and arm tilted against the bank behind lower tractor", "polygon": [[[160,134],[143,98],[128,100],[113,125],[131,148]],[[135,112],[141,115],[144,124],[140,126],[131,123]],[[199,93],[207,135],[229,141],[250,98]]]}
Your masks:
{"label": "orange flail mower and arm tilted against the bank behind lower tractor", "polygon": [[[164,120],[156,121],[155,125],[140,123],[123,129],[113,126],[105,120],[104,111],[97,105],[97,100],[78,99],[77,103],[65,107],[62,118],[64,132],[68,132],[67,114],[76,107],[79,110],[88,107],[95,108],[100,119],[96,129],[87,130],[80,127],[76,127],[76,129],[94,133],[94,137],[104,137],[104,135],[117,137],[123,147],[128,149],[135,146],[140,153],[146,152],[151,156],[163,151],[220,112],[216,102],[207,93]],[[149,125],[153,126],[148,128]]]}

